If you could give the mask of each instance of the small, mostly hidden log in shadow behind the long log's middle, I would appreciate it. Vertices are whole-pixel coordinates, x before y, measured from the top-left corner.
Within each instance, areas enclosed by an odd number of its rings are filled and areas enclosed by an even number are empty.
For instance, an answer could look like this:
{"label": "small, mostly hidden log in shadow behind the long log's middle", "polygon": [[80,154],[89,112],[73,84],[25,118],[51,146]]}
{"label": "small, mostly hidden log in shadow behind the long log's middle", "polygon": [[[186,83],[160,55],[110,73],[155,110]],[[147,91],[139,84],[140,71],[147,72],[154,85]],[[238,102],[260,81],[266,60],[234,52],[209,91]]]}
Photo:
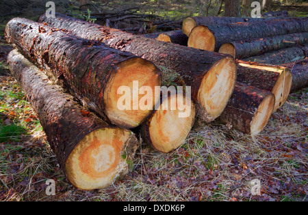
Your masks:
{"label": "small, mostly hidden log in shadow behind the long log's middle", "polygon": [[181,46],[187,46],[188,36],[182,30],[167,31],[162,33],[149,33],[144,35],[145,38],[156,39],[163,42],[171,42]]}

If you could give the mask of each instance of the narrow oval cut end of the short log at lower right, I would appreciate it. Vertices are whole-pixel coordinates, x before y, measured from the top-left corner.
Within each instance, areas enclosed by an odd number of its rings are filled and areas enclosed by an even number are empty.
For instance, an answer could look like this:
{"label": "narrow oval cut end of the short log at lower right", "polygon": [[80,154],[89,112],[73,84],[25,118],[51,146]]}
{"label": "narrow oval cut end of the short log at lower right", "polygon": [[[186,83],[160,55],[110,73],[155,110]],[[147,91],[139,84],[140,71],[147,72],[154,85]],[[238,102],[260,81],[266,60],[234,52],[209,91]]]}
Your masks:
{"label": "narrow oval cut end of the short log at lower right", "polygon": [[262,100],[261,104],[256,111],[255,116],[253,117],[253,121],[251,121],[251,135],[257,135],[261,132],[266,124],[268,124],[268,120],[272,115],[272,110],[274,109],[275,97],[273,94],[269,94]]}

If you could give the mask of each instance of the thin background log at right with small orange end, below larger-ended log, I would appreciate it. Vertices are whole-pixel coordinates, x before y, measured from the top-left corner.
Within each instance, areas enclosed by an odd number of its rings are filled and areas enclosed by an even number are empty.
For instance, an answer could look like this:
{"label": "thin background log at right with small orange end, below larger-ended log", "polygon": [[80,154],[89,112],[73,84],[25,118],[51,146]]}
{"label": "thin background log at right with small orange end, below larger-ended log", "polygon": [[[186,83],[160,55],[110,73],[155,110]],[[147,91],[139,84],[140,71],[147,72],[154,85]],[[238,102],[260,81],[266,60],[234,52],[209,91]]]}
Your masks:
{"label": "thin background log at right with small orange end, below larger-ended log", "polygon": [[290,48],[308,43],[308,32],[276,35],[270,38],[256,38],[225,43],[219,48],[219,53],[232,55],[235,59],[243,59],[262,55],[282,48]]}

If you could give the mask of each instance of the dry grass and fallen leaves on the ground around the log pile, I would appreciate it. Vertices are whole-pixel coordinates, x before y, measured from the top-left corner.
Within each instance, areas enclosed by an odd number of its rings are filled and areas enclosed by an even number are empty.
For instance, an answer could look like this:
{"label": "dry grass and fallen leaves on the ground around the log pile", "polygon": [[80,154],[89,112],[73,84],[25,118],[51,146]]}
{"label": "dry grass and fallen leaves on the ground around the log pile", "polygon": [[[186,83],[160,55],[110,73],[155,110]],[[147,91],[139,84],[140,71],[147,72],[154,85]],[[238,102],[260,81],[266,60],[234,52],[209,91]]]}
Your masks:
{"label": "dry grass and fallen leaves on the ground around the log pile", "polygon": [[[6,56],[12,46],[3,35],[5,21],[0,25],[0,201],[308,200],[308,88],[290,94],[256,137],[197,120],[175,152],[155,152],[140,139],[123,180],[102,190],[77,190],[10,75]],[[49,179],[55,180],[54,196],[45,193]],[[253,180],[261,185],[257,195]]]}

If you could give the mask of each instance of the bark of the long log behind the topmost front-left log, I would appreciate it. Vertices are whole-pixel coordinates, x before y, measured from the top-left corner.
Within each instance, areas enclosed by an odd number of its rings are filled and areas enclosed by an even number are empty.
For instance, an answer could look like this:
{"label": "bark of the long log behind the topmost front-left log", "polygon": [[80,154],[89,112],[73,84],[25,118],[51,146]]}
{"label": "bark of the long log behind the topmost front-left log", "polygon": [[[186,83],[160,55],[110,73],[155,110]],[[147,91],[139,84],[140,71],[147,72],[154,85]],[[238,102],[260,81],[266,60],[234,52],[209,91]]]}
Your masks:
{"label": "bark of the long log behind the topmost front-left log", "polygon": [[[198,91],[201,87],[201,81],[207,72],[216,65],[215,63],[222,59],[228,59],[233,64],[233,59],[230,59],[229,55],[220,55],[177,44],[160,42],[139,35],[125,33],[117,29],[110,29],[75,18],[69,18],[62,14],[56,14],[56,18],[47,18],[45,14],[42,14],[38,20],[52,27],[67,29],[80,38],[102,41],[120,51],[129,51],[134,55],[153,61],[158,66],[164,66],[176,71],[183,78],[186,85],[192,86],[192,100],[198,102],[198,104],[201,104],[198,99]],[[231,67],[233,70],[233,66]],[[220,89],[220,91],[232,91],[232,81],[235,80],[234,78],[236,78],[236,75],[231,75],[231,82],[229,82],[231,87],[227,87],[229,89]],[[205,109],[205,111],[207,110]],[[215,117],[207,115],[207,113],[205,113],[204,117],[207,121],[215,119]]]}

